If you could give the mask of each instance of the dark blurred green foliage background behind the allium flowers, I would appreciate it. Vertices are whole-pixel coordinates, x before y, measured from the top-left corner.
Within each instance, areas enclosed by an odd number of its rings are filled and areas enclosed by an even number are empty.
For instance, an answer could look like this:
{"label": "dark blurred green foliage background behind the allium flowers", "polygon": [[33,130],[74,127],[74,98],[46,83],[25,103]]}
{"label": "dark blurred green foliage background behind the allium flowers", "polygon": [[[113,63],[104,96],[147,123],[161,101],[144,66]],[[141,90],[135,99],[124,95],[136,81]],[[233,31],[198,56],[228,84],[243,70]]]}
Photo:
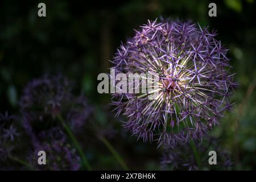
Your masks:
{"label": "dark blurred green foliage background behind the allium flowers", "polygon": [[[38,17],[38,3],[47,7]],[[256,13],[254,0],[217,1],[217,17],[208,16],[212,1],[2,1],[0,3],[0,111],[19,111],[24,86],[44,73],[62,73],[75,81],[96,108],[100,126],[115,130],[110,142],[130,169],[160,169],[160,149],[125,133],[110,114],[110,96],[97,93],[97,75],[108,72],[119,44],[147,19],[191,19],[210,30],[229,48],[240,87],[234,108],[213,133],[228,149],[234,169],[256,169]],[[85,133],[82,138],[93,134]],[[95,139],[96,140],[96,139]],[[85,139],[93,169],[121,169],[104,144]]]}

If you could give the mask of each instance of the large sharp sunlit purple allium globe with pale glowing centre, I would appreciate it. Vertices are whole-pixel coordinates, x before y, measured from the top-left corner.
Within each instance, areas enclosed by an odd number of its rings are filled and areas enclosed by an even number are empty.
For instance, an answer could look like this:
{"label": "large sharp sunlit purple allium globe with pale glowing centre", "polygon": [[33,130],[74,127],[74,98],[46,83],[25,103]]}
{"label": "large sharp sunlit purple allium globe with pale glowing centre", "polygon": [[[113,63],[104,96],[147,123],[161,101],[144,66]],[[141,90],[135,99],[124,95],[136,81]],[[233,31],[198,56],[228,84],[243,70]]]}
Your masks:
{"label": "large sharp sunlit purple allium globe with pale glowing centre", "polygon": [[150,73],[159,82],[146,94],[113,94],[117,116],[129,118],[123,126],[159,146],[202,138],[233,105],[237,84],[228,49],[215,39],[216,31],[191,22],[148,20],[135,32],[112,60],[115,74]]}

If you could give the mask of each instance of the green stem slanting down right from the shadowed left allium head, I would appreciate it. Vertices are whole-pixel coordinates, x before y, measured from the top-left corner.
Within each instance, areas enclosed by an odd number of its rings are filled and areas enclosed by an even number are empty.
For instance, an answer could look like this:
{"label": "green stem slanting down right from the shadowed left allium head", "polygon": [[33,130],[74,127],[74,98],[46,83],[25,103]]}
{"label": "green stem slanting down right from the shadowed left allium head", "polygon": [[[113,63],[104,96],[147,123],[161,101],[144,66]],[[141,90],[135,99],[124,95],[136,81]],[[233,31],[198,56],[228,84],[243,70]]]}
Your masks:
{"label": "green stem slanting down right from the shadowed left allium head", "polygon": [[86,156],[84,155],[84,152],[82,151],[82,148],[79,144],[79,142],[77,142],[76,137],[73,135],[71,129],[68,127],[68,125],[65,123],[63,117],[61,117],[60,114],[57,115],[57,118],[60,120],[60,122],[62,123],[64,129],[67,131],[69,138],[72,140],[73,144],[76,147],[76,150],[79,152],[82,162],[84,163],[84,165],[86,166],[86,168],[90,171],[92,170],[92,168],[90,167],[90,164],[88,162],[88,159],[86,158]]}

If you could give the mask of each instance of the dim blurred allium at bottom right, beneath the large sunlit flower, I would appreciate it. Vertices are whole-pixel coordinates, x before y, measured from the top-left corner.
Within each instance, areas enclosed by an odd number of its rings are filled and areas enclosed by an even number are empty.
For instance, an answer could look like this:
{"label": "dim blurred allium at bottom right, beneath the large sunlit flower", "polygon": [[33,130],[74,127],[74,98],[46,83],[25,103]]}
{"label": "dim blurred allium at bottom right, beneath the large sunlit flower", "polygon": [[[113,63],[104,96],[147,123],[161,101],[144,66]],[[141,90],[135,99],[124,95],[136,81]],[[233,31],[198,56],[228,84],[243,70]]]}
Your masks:
{"label": "dim blurred allium at bottom right, beneath the large sunlit flower", "polygon": [[[196,159],[189,143],[179,143],[175,148],[165,148],[161,159],[162,168],[171,170],[228,170],[232,168],[230,154],[219,147],[217,138],[209,137],[203,141],[197,140],[195,147],[199,159]],[[208,162],[210,158],[208,153],[212,150],[217,154],[216,165],[210,165]]]}

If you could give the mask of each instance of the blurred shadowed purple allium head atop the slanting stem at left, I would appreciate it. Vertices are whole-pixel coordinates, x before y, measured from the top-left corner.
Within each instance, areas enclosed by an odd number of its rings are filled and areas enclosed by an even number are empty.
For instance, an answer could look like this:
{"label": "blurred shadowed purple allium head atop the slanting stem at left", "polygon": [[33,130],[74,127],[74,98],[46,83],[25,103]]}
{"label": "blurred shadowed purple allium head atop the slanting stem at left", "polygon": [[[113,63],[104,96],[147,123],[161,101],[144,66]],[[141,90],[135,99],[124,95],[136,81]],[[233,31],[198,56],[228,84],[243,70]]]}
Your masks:
{"label": "blurred shadowed purple allium head atop the slanting stem at left", "polygon": [[63,127],[58,115],[74,131],[85,123],[91,109],[85,97],[76,97],[71,90],[71,82],[61,75],[44,76],[28,83],[20,100],[20,110],[24,128],[33,142],[58,135],[57,131]]}

